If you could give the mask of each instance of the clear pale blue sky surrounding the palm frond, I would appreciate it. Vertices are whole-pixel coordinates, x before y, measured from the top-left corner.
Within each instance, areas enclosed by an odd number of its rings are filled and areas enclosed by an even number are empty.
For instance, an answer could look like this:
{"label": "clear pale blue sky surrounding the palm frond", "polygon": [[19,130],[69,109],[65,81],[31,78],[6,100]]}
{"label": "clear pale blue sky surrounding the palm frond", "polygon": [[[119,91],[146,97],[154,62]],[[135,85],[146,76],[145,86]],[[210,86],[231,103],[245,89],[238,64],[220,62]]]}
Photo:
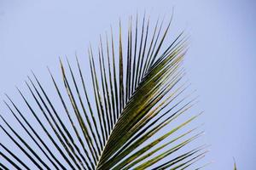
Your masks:
{"label": "clear pale blue sky surrounding the palm frond", "polygon": [[[256,2],[253,0],[0,0],[0,95],[15,98],[30,70],[49,81],[46,65],[85,54],[110,24],[144,10],[167,16],[171,31],[190,35],[185,67],[206,111],[201,122],[212,144],[206,169],[256,167]],[[0,111],[5,108],[1,104]]]}

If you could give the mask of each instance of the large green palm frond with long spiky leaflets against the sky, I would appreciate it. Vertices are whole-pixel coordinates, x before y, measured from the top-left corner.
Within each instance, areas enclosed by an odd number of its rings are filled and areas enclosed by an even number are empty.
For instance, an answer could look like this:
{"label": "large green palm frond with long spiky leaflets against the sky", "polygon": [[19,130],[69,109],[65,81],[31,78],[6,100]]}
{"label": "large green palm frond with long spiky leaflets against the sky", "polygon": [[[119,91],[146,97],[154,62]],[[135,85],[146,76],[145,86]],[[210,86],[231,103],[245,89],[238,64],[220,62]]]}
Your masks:
{"label": "large green palm frond with long spiky leaflets against the sky", "polygon": [[118,41],[111,28],[90,46],[86,70],[79,57],[76,67],[60,59],[62,83],[49,71],[56,98],[32,72],[29,94],[18,89],[26,111],[6,95],[15,126],[1,116],[0,167],[186,169],[203,158],[204,146],[186,148],[202,134],[189,127],[201,113],[178,122],[197,101],[183,78],[188,38],[165,44],[171,23],[130,17],[124,34],[119,21]]}

